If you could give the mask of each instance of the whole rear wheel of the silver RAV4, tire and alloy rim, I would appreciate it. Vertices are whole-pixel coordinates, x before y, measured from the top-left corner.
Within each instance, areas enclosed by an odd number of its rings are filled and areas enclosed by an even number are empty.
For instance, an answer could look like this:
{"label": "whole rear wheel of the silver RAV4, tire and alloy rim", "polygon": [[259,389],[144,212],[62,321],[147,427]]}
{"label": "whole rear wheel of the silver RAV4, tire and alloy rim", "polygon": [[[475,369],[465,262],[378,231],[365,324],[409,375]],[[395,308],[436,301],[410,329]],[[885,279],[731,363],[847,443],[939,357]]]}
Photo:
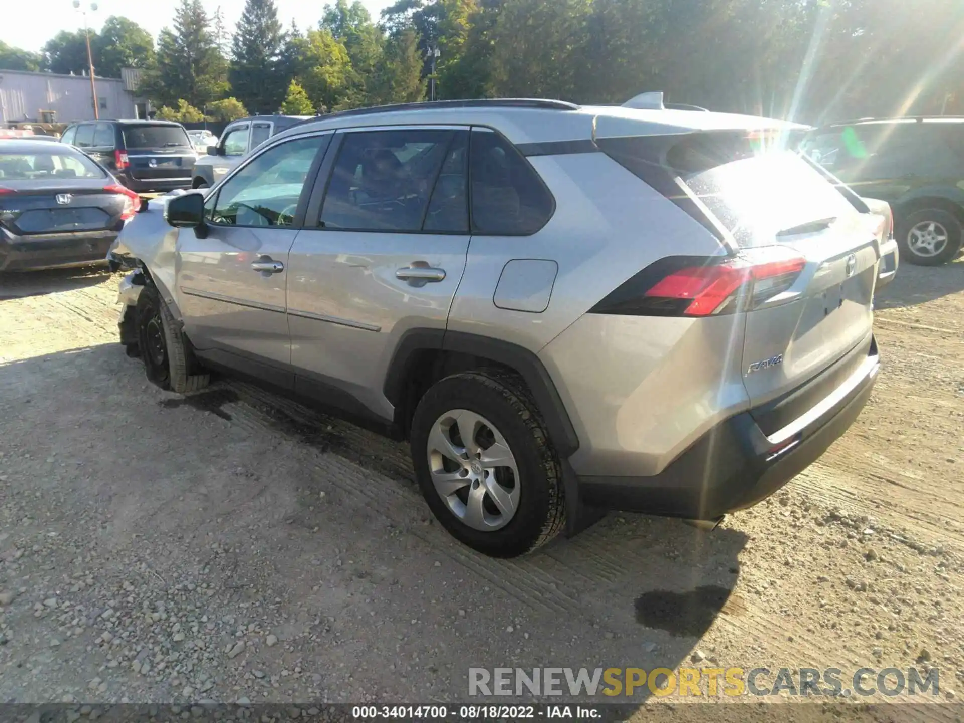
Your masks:
{"label": "whole rear wheel of the silver RAV4, tire and alloy rim", "polygon": [[564,527],[559,460],[514,374],[483,369],[438,382],[418,403],[411,438],[422,495],[470,548],[516,557]]}

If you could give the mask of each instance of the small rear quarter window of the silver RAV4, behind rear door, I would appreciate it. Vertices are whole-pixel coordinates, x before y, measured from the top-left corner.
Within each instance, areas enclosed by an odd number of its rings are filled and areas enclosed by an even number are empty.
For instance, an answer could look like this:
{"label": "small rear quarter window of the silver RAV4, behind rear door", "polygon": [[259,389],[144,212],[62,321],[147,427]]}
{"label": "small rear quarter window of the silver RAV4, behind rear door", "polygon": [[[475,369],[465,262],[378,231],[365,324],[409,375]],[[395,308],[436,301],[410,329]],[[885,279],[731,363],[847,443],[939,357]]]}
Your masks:
{"label": "small rear quarter window of the silver RAV4, behind rear door", "polygon": [[555,210],[549,189],[501,136],[472,130],[472,233],[523,236],[543,228]]}

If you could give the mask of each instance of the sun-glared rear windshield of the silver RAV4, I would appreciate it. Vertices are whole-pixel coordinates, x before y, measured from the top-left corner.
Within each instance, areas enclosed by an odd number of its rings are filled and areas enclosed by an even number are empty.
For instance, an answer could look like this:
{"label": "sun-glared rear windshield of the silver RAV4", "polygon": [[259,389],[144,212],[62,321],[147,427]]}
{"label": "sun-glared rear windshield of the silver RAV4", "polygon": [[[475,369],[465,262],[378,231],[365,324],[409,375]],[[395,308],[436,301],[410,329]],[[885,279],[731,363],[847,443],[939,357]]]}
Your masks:
{"label": "sun-glared rear windshield of the silver RAV4", "polygon": [[[740,247],[767,246],[781,231],[856,213],[823,175],[775,139],[722,132],[600,145],[692,215],[705,206]],[[677,178],[698,202],[683,193]]]}

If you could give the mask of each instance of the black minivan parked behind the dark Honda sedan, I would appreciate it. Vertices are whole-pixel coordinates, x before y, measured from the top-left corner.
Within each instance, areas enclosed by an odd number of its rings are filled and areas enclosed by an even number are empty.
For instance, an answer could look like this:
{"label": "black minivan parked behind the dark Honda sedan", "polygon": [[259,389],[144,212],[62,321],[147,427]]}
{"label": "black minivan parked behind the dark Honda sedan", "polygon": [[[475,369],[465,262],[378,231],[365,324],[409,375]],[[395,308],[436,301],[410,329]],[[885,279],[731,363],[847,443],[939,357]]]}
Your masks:
{"label": "black minivan parked behind the dark Honda sedan", "polygon": [[83,150],[137,193],[190,188],[198,154],[180,123],[90,120],[67,126],[62,143]]}

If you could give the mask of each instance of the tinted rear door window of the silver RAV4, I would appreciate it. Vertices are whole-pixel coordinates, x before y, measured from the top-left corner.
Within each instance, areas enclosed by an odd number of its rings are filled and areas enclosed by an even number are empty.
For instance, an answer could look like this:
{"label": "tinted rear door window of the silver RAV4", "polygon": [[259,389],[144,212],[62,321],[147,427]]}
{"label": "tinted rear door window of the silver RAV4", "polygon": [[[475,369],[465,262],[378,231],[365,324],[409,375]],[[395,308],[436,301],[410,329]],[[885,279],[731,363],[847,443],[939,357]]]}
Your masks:
{"label": "tinted rear door window of the silver RAV4", "polygon": [[454,136],[429,128],[347,133],[322,207],[322,226],[420,231]]}

